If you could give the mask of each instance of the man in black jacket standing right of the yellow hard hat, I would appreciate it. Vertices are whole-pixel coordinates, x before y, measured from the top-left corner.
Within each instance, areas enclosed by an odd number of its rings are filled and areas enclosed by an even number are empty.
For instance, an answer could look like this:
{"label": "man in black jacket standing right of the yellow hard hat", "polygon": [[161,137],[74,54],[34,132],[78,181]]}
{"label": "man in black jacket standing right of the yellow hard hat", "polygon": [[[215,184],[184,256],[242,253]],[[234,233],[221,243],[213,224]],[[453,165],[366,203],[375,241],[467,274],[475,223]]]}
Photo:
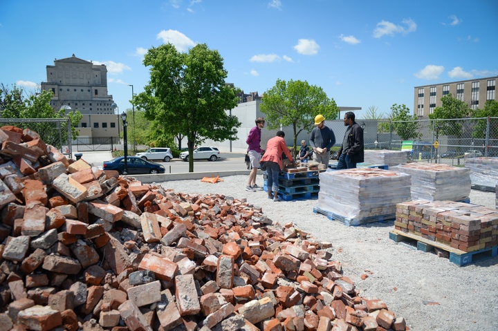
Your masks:
{"label": "man in black jacket standing right of the yellow hard hat", "polygon": [[338,166],[336,169],[356,168],[356,164],[363,162],[365,149],[363,148],[363,129],[355,122],[352,111],[344,114],[344,126],[348,126],[342,147],[338,153]]}

